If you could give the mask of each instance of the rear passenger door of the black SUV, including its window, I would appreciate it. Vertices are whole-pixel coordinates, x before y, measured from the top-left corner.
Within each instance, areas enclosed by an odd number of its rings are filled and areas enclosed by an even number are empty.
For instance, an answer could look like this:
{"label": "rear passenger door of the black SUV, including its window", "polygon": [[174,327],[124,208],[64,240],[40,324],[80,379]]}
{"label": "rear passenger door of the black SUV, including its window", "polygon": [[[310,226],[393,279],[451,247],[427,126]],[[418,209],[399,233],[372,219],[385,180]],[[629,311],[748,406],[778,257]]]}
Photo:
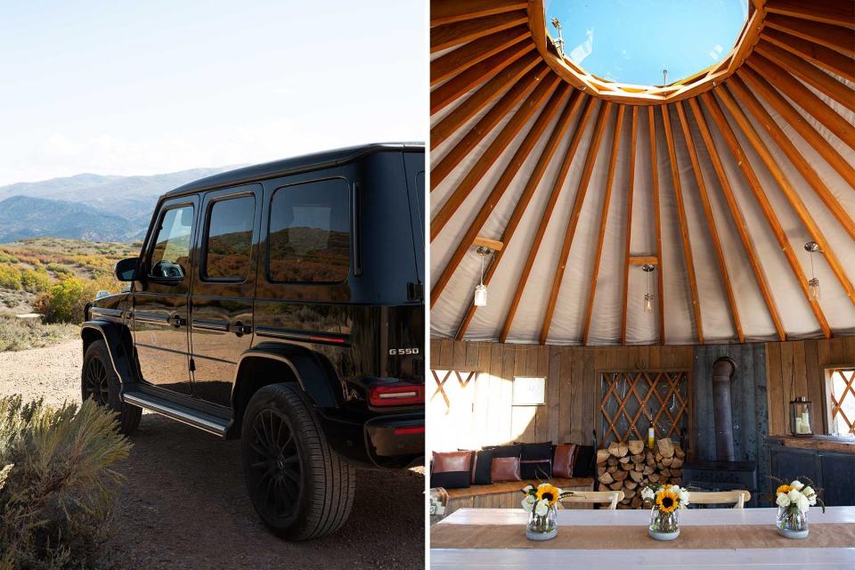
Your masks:
{"label": "rear passenger door of the black SUV, including its window", "polygon": [[190,301],[191,368],[193,394],[210,403],[231,403],[240,354],[252,345],[261,203],[259,184],[203,199]]}

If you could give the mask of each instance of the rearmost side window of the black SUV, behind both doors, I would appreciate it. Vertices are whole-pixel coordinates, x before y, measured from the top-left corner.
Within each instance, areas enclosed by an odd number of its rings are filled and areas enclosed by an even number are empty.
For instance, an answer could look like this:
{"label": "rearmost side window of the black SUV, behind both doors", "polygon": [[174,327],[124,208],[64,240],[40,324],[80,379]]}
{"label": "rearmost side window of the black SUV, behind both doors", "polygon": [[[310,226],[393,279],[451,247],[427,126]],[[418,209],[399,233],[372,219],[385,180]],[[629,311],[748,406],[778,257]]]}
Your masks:
{"label": "rearmost side window of the black SUV, behind both doors", "polygon": [[338,283],[350,273],[350,187],[333,178],[280,188],[270,207],[271,281]]}

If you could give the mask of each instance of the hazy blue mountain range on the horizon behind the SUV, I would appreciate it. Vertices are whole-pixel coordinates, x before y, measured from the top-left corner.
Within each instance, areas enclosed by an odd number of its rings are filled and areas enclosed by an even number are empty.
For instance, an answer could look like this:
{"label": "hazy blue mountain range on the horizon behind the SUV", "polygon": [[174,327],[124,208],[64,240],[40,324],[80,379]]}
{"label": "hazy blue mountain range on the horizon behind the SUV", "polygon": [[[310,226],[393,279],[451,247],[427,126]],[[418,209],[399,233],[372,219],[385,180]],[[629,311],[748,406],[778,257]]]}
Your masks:
{"label": "hazy blue mountain range on the horizon behind the SUV", "polygon": [[150,176],[82,174],[0,186],[0,243],[46,236],[139,240],[161,194],[232,168]]}

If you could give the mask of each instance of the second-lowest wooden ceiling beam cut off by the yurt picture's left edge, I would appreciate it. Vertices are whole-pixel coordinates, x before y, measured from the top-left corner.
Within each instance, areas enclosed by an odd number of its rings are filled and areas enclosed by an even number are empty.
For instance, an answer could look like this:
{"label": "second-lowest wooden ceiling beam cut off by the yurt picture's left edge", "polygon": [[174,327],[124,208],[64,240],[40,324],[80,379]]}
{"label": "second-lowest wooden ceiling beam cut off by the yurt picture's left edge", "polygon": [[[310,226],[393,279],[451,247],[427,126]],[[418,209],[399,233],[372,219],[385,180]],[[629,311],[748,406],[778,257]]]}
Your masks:
{"label": "second-lowest wooden ceiling beam cut off by the yurt picture's left edge", "polygon": [[501,154],[507,150],[534,112],[540,109],[544,102],[550,98],[550,95],[556,90],[559,83],[562,82],[558,76],[550,73],[550,77],[547,77],[540,85],[534,87],[532,94],[519,106],[517,112],[514,113],[513,117],[510,118],[496,138],[493,139],[493,142],[490,143],[490,146],[487,147],[487,150],[481,155],[475,166],[468,170],[457,188],[452,191],[452,194],[436,212],[436,216],[431,219],[431,241],[436,239],[436,236],[443,230],[445,224],[448,224],[448,221],[452,219],[457,208],[460,208],[463,201],[467,199],[469,192],[475,188],[481,177],[493,166],[493,163],[499,159]]}

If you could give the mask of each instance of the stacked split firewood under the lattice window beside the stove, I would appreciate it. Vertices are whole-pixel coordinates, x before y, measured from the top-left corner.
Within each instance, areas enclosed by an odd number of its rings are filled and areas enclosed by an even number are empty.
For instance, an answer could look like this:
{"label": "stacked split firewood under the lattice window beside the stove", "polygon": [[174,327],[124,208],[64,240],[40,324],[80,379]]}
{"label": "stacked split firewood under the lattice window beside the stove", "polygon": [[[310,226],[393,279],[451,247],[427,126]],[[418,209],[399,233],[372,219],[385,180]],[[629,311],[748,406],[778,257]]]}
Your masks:
{"label": "stacked split firewood under the lattice window beside the stove", "polygon": [[680,444],[670,439],[658,440],[652,450],[639,440],[613,442],[597,451],[599,490],[623,491],[618,509],[639,509],[645,485],[680,485],[685,457]]}

